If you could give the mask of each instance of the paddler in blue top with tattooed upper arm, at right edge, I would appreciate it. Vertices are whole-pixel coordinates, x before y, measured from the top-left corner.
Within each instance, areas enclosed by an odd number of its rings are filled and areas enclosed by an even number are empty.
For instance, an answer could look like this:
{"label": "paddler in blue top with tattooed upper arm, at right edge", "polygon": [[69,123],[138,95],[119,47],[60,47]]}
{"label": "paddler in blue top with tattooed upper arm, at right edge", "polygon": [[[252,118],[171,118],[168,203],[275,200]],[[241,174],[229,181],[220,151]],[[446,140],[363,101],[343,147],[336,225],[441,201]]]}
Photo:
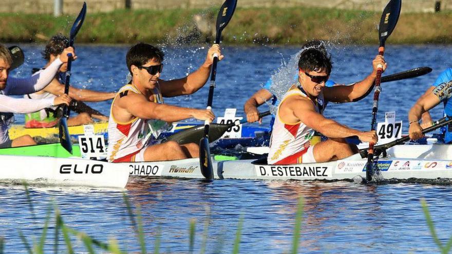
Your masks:
{"label": "paddler in blue top with tattooed upper arm, at right edge", "polygon": [[[443,71],[436,82],[418,99],[408,112],[408,134],[410,139],[418,140],[424,137],[422,129],[431,126],[432,121],[428,111],[441,102],[444,103],[444,114],[452,116],[452,68]],[[422,124],[419,121],[422,119]],[[452,128],[448,126],[444,133],[444,143],[452,142]]]}

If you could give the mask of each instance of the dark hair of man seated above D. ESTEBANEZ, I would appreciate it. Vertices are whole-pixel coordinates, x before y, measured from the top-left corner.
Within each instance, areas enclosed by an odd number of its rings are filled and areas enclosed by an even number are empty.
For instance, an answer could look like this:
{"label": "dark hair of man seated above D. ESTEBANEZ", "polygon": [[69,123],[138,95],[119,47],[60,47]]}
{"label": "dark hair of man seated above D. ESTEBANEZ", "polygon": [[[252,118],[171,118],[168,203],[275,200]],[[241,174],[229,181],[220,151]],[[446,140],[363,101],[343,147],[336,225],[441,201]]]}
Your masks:
{"label": "dark hair of man seated above D. ESTEBANEZ", "polygon": [[325,71],[329,75],[333,68],[331,56],[324,54],[321,50],[314,48],[307,49],[300,54],[298,68],[306,72]]}

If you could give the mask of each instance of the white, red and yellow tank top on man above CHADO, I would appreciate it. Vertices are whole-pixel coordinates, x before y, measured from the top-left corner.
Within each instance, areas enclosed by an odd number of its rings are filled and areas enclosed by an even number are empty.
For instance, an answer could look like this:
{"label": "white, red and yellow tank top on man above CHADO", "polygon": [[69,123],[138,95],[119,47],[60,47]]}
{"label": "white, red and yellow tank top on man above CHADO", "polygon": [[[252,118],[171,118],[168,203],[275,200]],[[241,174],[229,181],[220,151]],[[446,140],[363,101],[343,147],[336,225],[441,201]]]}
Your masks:
{"label": "white, red and yellow tank top on man above CHADO", "polygon": [[[155,138],[158,138],[158,135],[162,131],[171,128],[171,125],[161,120],[135,118],[125,123],[118,122],[113,116],[112,107],[118,95],[120,97],[126,96],[128,92],[142,94],[134,85],[128,84],[119,89],[115,99],[111,103],[110,117],[108,120],[107,149],[107,158],[110,162],[141,150],[151,138],[150,134],[157,135]],[[154,91],[154,102],[163,103],[158,88]]]}

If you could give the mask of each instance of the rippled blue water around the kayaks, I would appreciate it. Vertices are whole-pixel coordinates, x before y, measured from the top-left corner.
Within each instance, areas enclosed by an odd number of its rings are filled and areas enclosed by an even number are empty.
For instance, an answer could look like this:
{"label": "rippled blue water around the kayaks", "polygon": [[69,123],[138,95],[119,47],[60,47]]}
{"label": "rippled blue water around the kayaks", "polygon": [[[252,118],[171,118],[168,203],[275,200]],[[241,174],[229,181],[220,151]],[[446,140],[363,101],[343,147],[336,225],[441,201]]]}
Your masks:
{"label": "rippled blue water around the kayaks", "polygon": [[[27,63],[12,73],[16,76],[25,76],[32,67],[44,65],[39,58],[42,45],[21,46]],[[345,84],[360,81],[370,73],[376,49],[376,46],[336,45],[332,48],[331,79]],[[95,90],[118,90],[126,82],[126,50],[125,46],[79,46],[72,84]],[[163,79],[181,77],[195,70],[206,52],[202,47],[166,47],[164,50],[167,57]],[[225,108],[236,107],[237,114],[241,115],[248,97],[297,50],[295,47],[225,47],[225,58],[218,65],[214,112],[222,115]],[[407,111],[417,97],[449,67],[451,53],[449,46],[388,45],[385,74],[420,66],[429,66],[434,71],[416,79],[383,84],[379,121],[383,121],[383,112],[396,110],[398,119],[406,123]],[[166,101],[204,108],[207,94],[206,86],[194,95]],[[371,97],[357,103],[329,105],[326,115],[353,128],[369,129]],[[91,105],[108,114],[109,103]],[[263,106],[262,111],[266,107]],[[440,118],[441,108],[433,110],[432,115]],[[23,121],[23,118],[17,119]],[[264,121],[267,123],[268,119]],[[403,129],[407,131],[406,124]],[[195,253],[199,252],[204,222],[208,218],[206,253],[232,252],[240,218],[243,218],[241,253],[289,252],[296,203],[299,197],[304,197],[300,252],[431,253],[438,251],[428,231],[420,199],[427,200],[437,232],[445,243],[452,227],[451,190],[451,186],[425,184],[367,186],[350,182],[221,180],[204,183],[200,180],[131,179],[124,192],[133,207],[141,207],[149,252],[153,251],[159,232],[161,251],[188,252],[192,219],[197,222]],[[0,236],[5,238],[6,253],[26,253],[18,230],[21,229],[30,242],[37,241],[53,203],[61,210],[69,227],[101,241],[115,238],[124,249],[139,251],[122,190],[32,186],[30,195],[36,219],[33,219],[24,187],[0,187]],[[53,251],[52,239],[53,230],[50,230],[46,253]],[[79,253],[85,251],[82,242],[73,244]],[[63,248],[59,246],[60,252],[65,252]]]}

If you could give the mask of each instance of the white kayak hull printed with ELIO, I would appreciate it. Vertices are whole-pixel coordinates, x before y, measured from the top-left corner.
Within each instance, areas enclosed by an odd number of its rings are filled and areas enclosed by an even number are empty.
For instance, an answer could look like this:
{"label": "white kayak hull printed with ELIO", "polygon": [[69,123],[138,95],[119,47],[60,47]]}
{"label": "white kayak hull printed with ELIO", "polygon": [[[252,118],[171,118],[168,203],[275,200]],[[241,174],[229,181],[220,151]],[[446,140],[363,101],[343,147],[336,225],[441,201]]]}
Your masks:
{"label": "white kayak hull printed with ELIO", "polygon": [[1,155],[2,182],[124,188],[128,170],[122,165],[79,158]]}

